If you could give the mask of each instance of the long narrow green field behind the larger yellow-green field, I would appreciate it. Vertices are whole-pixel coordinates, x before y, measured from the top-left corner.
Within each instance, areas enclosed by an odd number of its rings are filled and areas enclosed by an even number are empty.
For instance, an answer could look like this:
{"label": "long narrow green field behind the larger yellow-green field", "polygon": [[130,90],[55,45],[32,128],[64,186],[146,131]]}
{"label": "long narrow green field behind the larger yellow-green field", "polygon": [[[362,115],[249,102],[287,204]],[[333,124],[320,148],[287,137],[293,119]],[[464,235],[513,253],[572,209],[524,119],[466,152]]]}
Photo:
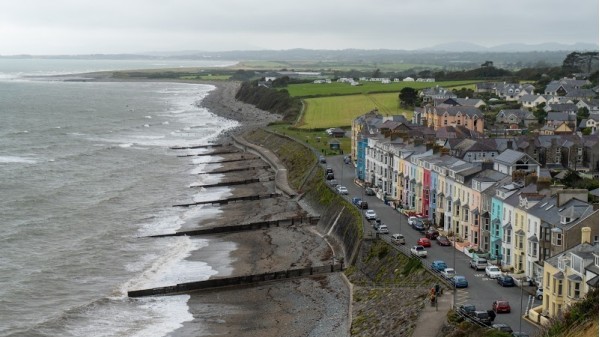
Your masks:
{"label": "long narrow green field behind the larger yellow-green field", "polygon": [[479,81],[448,81],[448,82],[397,82],[382,84],[379,82],[361,82],[362,85],[351,86],[348,83],[303,83],[290,84],[286,87],[292,97],[322,97],[337,95],[369,94],[376,92],[396,92],[405,87],[415,89],[430,88],[436,85],[451,88],[474,88],[474,84]]}

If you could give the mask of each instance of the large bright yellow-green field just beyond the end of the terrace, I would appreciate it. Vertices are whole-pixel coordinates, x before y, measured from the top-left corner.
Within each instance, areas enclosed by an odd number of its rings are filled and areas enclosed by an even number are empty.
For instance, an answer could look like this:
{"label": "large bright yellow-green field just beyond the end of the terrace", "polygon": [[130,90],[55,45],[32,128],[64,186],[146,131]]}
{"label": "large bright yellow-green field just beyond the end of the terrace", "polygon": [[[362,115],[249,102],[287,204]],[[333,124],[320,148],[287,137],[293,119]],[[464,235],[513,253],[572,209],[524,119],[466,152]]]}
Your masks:
{"label": "large bright yellow-green field just beyond the end of the terrace", "polygon": [[304,104],[304,114],[296,125],[302,129],[349,127],[352,120],[373,109],[384,116],[403,114],[409,120],[413,113],[400,109],[397,93],[307,98]]}

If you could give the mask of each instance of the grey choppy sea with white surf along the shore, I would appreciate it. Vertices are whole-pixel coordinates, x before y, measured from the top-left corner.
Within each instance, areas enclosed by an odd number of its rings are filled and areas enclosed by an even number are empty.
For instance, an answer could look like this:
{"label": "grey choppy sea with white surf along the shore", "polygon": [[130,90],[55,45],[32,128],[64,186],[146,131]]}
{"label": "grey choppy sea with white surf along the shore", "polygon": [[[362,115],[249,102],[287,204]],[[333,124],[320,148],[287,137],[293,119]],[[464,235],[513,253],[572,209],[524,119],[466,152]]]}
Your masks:
{"label": "grey choppy sea with white surf along the shore", "polygon": [[199,106],[210,85],[46,76],[234,63],[0,58],[0,336],[165,336],[192,319],[188,295],[127,291],[217,273],[185,259],[209,241],[148,236],[220,212],[172,207],[229,191],[190,188],[211,158],[171,147],[237,122]]}

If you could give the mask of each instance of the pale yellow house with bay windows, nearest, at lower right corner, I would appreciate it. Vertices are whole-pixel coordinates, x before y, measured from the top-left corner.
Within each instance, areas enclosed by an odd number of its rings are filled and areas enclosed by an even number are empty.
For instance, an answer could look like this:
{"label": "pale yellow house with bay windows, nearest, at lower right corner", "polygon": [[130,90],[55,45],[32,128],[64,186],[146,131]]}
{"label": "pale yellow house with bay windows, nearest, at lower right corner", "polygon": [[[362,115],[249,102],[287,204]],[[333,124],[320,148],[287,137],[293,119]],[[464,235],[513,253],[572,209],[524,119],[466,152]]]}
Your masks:
{"label": "pale yellow house with bay windows, nearest, at lower right corner", "polygon": [[581,244],[544,261],[542,305],[529,311],[532,321],[547,323],[598,287],[598,243],[591,243],[589,227],[581,233]]}

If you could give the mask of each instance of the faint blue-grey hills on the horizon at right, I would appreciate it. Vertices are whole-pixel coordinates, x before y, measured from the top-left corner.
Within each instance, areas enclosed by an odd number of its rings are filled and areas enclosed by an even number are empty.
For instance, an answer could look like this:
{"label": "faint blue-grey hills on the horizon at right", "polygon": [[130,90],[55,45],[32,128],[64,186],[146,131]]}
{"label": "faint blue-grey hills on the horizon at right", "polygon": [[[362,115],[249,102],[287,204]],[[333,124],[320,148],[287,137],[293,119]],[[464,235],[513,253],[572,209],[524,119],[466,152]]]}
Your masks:
{"label": "faint blue-grey hills on the horizon at right", "polygon": [[577,42],[573,44],[562,44],[562,43],[538,43],[538,44],[525,44],[525,43],[507,43],[493,47],[484,47],[475,43],[457,41],[448,42],[435,45],[433,47],[422,48],[420,51],[449,51],[449,52],[534,52],[534,51],[596,51],[598,50],[597,44]]}

